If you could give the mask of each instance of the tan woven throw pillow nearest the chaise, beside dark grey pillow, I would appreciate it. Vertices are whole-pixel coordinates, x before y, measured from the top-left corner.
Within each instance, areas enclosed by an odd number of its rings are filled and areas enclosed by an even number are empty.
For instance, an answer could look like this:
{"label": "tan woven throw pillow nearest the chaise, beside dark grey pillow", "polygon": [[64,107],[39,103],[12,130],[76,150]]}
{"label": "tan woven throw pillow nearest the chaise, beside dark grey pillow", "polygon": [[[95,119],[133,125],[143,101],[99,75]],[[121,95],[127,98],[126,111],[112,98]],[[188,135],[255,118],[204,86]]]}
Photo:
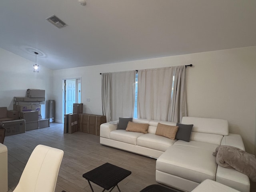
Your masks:
{"label": "tan woven throw pillow nearest the chaise, beside dark grey pillow", "polygon": [[172,140],[175,139],[179,126],[171,126],[158,123],[156,127],[156,135],[164,136]]}

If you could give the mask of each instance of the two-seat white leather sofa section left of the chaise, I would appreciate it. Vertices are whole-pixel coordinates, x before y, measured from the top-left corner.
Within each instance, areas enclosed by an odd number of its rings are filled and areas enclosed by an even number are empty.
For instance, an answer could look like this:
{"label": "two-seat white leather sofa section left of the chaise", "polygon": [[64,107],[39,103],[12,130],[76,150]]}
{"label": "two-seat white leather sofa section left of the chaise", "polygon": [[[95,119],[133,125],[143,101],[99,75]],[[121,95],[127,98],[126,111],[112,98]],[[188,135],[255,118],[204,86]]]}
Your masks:
{"label": "two-seat white leather sofa section left of the chaise", "polygon": [[144,156],[158,158],[177,141],[155,134],[158,122],[176,126],[174,122],[146,119],[133,119],[132,122],[148,123],[148,134],[116,130],[117,125],[104,123],[100,125],[100,143]]}

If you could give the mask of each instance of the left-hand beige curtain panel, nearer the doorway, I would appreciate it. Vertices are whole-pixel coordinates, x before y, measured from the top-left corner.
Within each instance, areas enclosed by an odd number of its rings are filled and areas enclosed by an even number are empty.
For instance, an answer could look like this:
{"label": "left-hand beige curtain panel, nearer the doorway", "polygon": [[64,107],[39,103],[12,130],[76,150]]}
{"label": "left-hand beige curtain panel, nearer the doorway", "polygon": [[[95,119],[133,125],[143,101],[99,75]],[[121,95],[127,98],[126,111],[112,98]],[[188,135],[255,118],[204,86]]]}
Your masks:
{"label": "left-hand beige curtain panel, nearer the doorway", "polygon": [[102,73],[102,111],[107,122],[133,117],[135,76],[135,70]]}

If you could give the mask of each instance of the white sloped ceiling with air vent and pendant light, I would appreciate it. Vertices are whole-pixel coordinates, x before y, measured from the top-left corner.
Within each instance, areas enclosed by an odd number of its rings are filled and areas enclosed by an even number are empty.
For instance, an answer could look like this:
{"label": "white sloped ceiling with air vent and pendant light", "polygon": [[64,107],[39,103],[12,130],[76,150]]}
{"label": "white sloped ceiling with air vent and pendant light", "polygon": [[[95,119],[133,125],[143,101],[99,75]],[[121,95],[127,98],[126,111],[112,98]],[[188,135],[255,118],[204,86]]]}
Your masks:
{"label": "white sloped ceiling with air vent and pendant light", "polygon": [[256,0],[86,3],[1,0],[0,47],[56,70],[256,46]]}

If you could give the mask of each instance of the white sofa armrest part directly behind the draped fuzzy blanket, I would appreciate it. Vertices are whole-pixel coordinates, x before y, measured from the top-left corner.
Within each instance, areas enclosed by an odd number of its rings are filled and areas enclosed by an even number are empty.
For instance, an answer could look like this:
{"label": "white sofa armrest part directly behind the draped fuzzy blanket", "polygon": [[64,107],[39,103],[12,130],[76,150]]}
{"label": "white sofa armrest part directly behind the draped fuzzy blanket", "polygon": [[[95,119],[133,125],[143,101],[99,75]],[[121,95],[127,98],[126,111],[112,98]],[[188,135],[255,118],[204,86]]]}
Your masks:
{"label": "white sofa armrest part directly behind the draped fuzzy blanket", "polygon": [[229,145],[245,150],[242,137],[238,134],[230,133],[228,136],[223,136],[220,145]]}

